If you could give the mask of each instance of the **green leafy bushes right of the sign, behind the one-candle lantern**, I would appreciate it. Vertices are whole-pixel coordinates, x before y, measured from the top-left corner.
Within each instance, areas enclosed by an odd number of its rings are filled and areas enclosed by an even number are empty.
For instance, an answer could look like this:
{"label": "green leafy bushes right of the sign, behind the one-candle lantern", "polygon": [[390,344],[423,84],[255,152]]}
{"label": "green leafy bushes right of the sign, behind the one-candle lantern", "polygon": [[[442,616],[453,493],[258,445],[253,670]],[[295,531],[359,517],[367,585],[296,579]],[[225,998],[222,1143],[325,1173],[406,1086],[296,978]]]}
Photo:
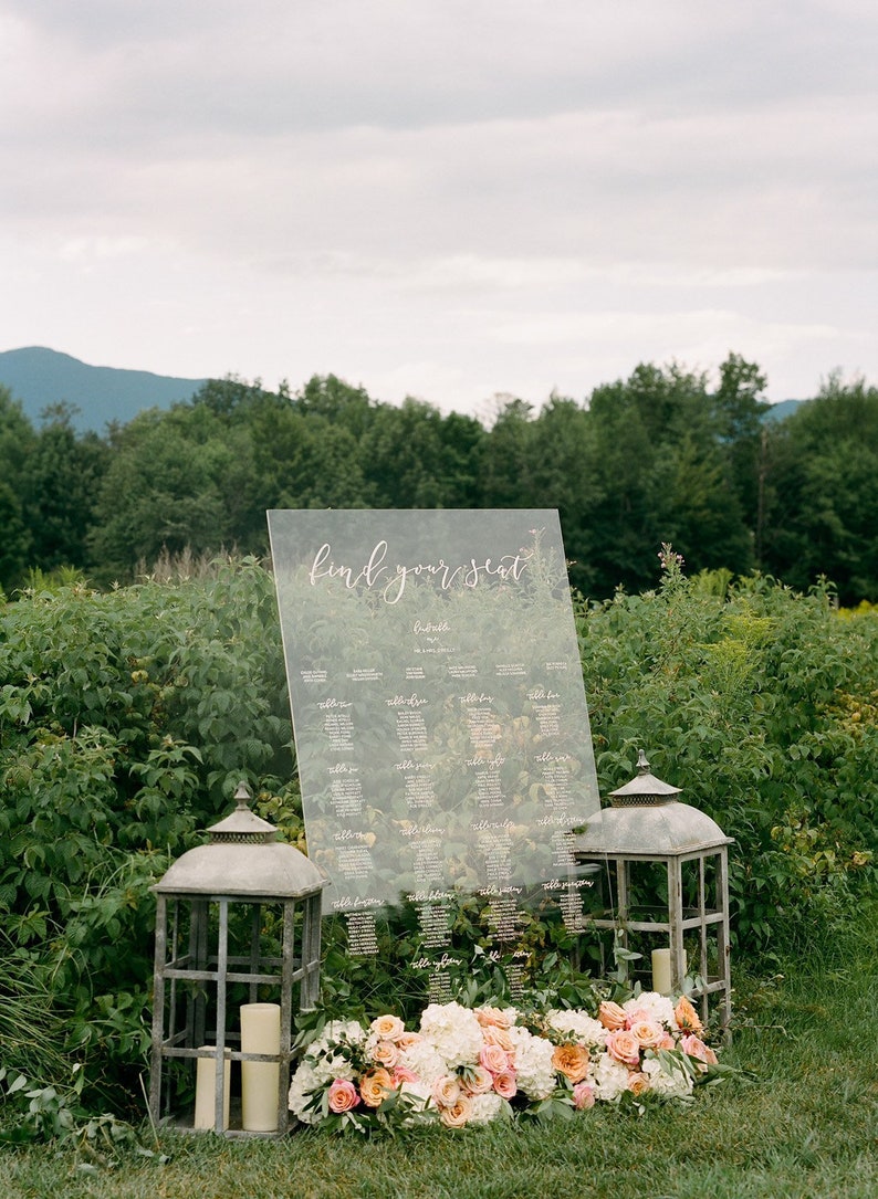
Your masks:
{"label": "green leafy bushes right of the sign, behind the one-candle lantern", "polygon": [[878,625],[751,578],[724,601],[666,561],[660,589],[578,615],[599,779],[657,775],[735,839],[734,938],[830,935],[874,882]]}

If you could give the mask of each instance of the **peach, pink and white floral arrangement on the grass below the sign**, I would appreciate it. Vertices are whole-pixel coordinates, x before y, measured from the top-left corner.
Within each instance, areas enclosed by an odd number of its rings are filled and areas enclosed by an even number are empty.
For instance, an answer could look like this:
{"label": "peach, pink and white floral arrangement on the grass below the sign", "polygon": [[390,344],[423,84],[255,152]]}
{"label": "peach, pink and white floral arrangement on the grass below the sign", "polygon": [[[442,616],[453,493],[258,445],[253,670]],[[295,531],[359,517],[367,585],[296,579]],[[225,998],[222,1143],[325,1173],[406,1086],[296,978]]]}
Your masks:
{"label": "peach, pink and white floral arrangement on the grass below the sign", "polygon": [[595,1103],[686,1098],[718,1066],[686,996],[654,992],[525,1017],[513,1007],[431,1004],[417,1031],[397,1016],[368,1028],[330,1020],[293,1074],[289,1107],[306,1125],[368,1132],[438,1121],[447,1128],[515,1114],[547,1119]]}

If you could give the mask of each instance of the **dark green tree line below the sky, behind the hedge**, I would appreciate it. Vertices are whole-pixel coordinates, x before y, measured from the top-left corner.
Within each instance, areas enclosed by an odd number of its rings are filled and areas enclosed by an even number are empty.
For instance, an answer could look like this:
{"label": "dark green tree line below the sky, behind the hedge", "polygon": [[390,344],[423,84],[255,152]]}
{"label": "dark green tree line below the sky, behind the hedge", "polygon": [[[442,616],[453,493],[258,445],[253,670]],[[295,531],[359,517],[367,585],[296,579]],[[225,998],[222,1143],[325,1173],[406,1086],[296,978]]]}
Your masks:
{"label": "dark green tree line below the sky, behind the hedge", "polygon": [[71,567],[127,583],[161,555],[267,552],[267,508],[558,508],[588,598],[654,586],[672,543],[690,573],[769,574],[878,601],[878,390],[832,375],[783,420],[730,354],[706,372],[644,363],[584,400],[489,421],[335,375],[297,392],[229,376],[106,435],[73,410],[37,427],[0,387],[0,588]]}

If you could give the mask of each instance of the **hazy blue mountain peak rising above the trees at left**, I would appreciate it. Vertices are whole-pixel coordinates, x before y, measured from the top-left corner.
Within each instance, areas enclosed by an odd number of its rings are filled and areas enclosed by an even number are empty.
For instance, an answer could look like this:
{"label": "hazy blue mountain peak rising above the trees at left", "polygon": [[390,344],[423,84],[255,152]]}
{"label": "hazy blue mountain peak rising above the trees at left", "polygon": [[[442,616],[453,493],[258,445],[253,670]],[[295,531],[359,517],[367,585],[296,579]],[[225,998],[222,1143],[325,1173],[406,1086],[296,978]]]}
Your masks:
{"label": "hazy blue mountain peak rising above the trees at left", "polygon": [[91,367],[38,345],[0,353],[0,385],[22,402],[28,418],[37,424],[44,408],[66,400],[78,409],[73,426],[79,432],[103,434],[110,421],[127,424],[144,408],[170,408],[191,399],[206,381]]}

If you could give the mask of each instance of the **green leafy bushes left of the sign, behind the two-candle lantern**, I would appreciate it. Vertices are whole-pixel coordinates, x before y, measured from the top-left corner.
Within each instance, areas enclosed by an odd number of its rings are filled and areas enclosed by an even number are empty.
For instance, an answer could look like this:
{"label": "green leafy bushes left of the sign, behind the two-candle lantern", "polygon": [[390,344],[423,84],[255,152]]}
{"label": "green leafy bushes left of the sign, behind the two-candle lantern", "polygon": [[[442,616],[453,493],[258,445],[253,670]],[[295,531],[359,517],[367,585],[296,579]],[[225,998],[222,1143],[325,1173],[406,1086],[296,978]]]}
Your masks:
{"label": "green leafy bushes left of the sign, behind the two-candle lantern", "polygon": [[[191,584],[34,590],[0,611],[0,912],[52,975],[86,1091],[113,1102],[149,1043],[150,885],[241,778],[265,805],[288,795],[276,627],[253,561]],[[48,1056],[29,1065],[54,1077]]]}

